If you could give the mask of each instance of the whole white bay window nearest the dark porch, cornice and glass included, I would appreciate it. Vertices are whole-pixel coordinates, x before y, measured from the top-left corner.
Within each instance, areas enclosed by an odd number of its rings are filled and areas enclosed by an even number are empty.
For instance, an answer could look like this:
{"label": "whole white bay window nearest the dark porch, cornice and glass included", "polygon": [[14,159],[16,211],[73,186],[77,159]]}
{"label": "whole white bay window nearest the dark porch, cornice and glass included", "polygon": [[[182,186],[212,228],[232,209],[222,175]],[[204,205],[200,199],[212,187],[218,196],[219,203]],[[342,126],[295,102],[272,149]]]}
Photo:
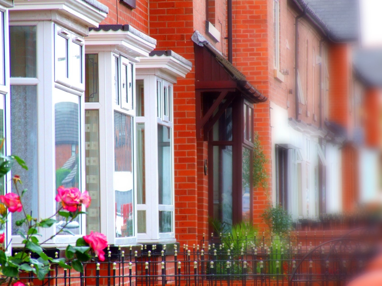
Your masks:
{"label": "whole white bay window nearest the dark porch, cornice and glass included", "polygon": [[172,51],[136,64],[138,242],[175,241],[173,84],[190,70]]}

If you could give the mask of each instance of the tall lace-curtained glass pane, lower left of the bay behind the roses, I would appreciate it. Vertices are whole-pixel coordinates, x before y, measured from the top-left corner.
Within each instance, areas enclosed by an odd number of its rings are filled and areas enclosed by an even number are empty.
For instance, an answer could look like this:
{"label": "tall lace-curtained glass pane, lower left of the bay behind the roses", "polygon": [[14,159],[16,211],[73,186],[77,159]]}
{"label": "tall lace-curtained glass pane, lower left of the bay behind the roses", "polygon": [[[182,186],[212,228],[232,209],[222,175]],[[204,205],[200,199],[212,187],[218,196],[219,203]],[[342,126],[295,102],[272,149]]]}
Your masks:
{"label": "tall lace-curtained glass pane, lower left of the bay behind the roses", "polygon": [[[23,189],[28,189],[23,197],[23,206],[27,214],[38,217],[37,193],[37,87],[36,85],[11,86],[11,149],[12,154],[21,157],[29,170],[18,164],[12,167],[12,175],[19,175]],[[16,189],[12,184],[12,192]],[[28,227],[16,226],[16,220],[24,218],[21,212],[12,214],[12,235],[18,231],[26,233]]]}

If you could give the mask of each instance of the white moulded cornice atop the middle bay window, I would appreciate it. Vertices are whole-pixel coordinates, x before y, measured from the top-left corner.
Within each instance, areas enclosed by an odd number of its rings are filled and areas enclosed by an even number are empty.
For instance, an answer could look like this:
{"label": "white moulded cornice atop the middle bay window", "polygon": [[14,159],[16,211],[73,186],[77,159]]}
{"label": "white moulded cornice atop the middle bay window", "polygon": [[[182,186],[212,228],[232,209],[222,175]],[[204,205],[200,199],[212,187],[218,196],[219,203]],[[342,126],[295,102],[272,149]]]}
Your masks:
{"label": "white moulded cornice atop the middle bay window", "polygon": [[86,53],[92,51],[114,51],[138,62],[140,57],[147,57],[155,45],[134,35],[130,31],[110,29],[109,31],[90,31],[85,38]]}

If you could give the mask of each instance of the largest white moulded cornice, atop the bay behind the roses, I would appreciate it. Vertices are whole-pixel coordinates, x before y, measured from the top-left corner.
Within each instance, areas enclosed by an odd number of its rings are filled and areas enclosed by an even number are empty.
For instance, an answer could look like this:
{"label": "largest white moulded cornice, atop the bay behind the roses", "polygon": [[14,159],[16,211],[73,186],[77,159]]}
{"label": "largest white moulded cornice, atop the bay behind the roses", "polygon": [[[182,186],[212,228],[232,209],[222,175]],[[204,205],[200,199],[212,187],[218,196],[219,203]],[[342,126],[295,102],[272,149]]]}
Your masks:
{"label": "largest white moulded cornice, atop the bay behind the roses", "polygon": [[[70,19],[78,23],[78,26],[86,27],[86,29],[98,27],[107,15],[82,0],[15,0],[14,6],[9,8],[9,11],[10,21],[51,20],[58,21],[58,24],[62,26],[67,26],[66,21],[60,22],[60,19]],[[85,31],[85,29],[79,30]],[[87,35],[87,32],[86,34],[81,32],[81,34]]]}

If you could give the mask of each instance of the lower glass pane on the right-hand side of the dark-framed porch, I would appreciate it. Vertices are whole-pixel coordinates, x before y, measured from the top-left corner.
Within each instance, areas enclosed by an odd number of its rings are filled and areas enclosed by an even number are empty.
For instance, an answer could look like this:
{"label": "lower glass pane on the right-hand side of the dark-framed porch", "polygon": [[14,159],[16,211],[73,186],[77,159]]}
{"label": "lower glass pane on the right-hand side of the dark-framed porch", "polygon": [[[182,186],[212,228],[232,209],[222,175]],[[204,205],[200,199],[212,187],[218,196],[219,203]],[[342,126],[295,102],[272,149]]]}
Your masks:
{"label": "lower glass pane on the right-hand side of the dark-framed porch", "polygon": [[243,167],[242,167],[242,219],[250,220],[251,213],[251,151],[243,148]]}

